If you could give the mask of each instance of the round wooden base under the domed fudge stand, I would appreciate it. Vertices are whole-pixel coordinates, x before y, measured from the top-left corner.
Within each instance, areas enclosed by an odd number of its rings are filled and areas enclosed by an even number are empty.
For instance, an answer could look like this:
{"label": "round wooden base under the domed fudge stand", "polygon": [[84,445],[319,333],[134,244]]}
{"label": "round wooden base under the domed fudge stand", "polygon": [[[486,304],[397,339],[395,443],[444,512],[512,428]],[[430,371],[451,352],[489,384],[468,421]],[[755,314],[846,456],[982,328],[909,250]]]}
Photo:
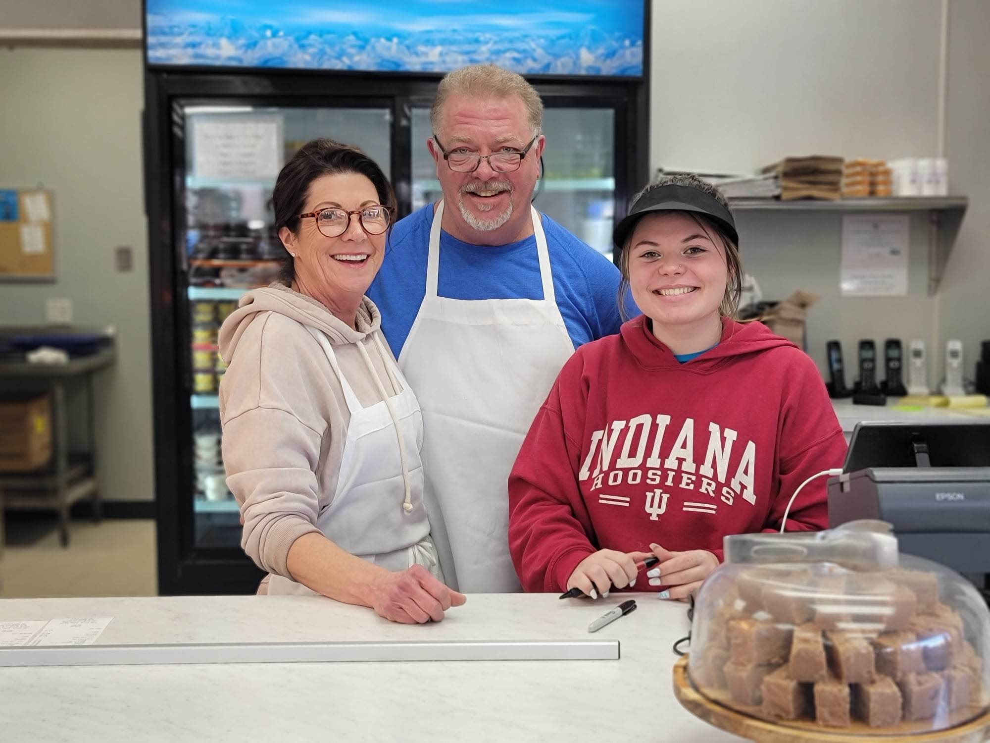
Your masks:
{"label": "round wooden base under the domed fudge stand", "polygon": [[[674,664],[674,696],[685,709],[720,730],[757,743],[986,743],[990,735],[990,710],[973,718],[978,707],[959,710],[953,715],[961,721],[953,727],[932,732],[926,722],[904,722],[883,730],[853,722],[847,728],[824,728],[809,720],[774,723],[731,709],[695,689],[687,675],[687,656]],[[756,710],[757,707],[753,707]]]}

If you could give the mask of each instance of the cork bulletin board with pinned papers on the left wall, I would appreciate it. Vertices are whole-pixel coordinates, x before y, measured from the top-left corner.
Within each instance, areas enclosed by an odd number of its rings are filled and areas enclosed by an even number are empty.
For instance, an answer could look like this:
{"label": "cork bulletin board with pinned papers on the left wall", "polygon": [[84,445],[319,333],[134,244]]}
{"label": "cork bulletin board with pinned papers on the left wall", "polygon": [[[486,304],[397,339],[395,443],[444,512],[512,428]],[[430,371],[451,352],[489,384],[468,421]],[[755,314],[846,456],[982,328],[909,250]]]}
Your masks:
{"label": "cork bulletin board with pinned papers on the left wall", "polygon": [[0,280],[54,278],[51,192],[0,188]]}

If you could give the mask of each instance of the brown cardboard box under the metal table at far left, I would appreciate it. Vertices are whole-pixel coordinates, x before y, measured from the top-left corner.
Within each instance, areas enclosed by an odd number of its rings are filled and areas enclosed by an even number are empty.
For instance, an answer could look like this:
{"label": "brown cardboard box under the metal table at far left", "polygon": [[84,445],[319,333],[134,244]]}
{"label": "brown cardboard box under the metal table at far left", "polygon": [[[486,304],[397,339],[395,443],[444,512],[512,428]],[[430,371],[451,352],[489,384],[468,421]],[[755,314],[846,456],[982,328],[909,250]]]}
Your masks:
{"label": "brown cardboard box under the metal table at far left", "polygon": [[0,398],[0,473],[37,470],[51,459],[48,395]]}

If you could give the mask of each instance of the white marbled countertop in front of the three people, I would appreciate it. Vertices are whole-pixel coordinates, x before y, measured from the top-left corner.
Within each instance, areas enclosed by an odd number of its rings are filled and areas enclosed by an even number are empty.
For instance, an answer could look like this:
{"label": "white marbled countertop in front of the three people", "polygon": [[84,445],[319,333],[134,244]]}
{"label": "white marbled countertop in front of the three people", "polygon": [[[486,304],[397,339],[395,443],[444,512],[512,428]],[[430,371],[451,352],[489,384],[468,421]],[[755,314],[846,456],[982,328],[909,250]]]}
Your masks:
{"label": "white marbled countertop in front of the three people", "polygon": [[[591,635],[629,597],[637,610]],[[653,593],[472,594],[407,626],[320,597],[0,600],[0,621],[113,616],[97,644],[618,639],[618,661],[0,668],[10,741],[739,741],[673,696],[687,606]]]}

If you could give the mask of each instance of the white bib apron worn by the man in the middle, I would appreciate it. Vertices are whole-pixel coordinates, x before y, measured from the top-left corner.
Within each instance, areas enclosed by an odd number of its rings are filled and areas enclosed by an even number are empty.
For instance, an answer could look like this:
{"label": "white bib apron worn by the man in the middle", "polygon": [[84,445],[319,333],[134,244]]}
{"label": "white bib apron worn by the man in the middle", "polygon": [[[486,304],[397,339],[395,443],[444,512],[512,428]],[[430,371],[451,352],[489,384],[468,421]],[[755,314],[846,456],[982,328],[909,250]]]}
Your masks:
{"label": "white bib apron worn by the man in the middle", "polygon": [[437,295],[444,202],[437,205],[426,294],[399,356],[423,410],[434,543],[446,584],[460,591],[520,590],[509,556],[509,471],[574,353],[553,296],[540,214],[530,209],[544,298],[464,300]]}

